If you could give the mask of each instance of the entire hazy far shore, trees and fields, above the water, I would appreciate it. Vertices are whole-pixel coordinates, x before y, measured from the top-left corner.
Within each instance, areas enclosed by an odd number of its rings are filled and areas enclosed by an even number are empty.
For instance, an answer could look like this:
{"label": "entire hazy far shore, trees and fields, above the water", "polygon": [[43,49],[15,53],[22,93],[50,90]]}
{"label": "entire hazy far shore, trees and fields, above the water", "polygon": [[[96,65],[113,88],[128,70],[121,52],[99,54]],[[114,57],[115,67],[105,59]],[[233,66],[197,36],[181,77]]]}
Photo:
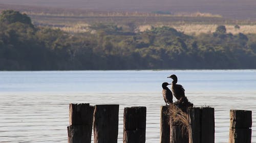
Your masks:
{"label": "entire hazy far shore, trees and fields, above the water", "polygon": [[256,0],[0,0],[0,11],[0,70],[256,69]]}

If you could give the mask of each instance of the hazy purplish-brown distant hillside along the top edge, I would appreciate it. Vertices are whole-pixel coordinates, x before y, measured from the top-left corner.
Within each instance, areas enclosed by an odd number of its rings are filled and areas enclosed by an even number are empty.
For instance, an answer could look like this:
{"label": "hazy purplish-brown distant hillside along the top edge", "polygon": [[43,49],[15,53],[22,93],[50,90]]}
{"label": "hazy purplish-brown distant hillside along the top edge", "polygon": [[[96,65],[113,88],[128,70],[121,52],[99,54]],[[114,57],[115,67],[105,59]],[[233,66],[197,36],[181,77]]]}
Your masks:
{"label": "hazy purplish-brown distant hillside along the top edge", "polygon": [[1,0],[0,4],[100,11],[202,12],[225,18],[256,20],[255,0]]}

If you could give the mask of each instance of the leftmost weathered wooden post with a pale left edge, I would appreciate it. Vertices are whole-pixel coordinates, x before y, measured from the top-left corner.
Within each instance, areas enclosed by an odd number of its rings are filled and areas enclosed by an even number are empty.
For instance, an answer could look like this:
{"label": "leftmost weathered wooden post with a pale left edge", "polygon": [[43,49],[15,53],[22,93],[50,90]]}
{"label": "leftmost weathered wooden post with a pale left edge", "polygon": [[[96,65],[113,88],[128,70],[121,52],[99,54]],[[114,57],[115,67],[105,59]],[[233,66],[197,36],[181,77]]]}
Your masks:
{"label": "leftmost weathered wooden post with a pale left edge", "polygon": [[69,104],[69,143],[90,143],[92,138],[94,107],[88,103]]}

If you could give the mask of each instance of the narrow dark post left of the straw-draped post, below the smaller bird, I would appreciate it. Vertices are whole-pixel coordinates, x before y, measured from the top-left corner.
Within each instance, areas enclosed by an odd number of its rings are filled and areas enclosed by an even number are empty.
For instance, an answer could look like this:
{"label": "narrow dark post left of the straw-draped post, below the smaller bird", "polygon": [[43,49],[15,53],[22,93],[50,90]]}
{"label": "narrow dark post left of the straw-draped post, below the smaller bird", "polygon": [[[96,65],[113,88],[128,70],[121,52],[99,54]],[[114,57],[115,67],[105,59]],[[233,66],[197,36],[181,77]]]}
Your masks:
{"label": "narrow dark post left of the straw-draped post, below the smaller bird", "polygon": [[169,106],[161,106],[160,143],[170,142]]}

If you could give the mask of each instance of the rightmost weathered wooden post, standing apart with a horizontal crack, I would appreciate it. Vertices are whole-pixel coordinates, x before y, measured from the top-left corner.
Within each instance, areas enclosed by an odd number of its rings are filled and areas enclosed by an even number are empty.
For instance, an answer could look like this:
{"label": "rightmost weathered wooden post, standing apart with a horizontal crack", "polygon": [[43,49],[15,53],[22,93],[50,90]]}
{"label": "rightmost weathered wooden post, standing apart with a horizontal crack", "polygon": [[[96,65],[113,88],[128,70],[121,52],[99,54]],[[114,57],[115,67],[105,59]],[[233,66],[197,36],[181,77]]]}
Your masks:
{"label": "rightmost weathered wooden post, standing apart with a horizontal crack", "polygon": [[229,143],[251,143],[251,111],[230,110]]}

